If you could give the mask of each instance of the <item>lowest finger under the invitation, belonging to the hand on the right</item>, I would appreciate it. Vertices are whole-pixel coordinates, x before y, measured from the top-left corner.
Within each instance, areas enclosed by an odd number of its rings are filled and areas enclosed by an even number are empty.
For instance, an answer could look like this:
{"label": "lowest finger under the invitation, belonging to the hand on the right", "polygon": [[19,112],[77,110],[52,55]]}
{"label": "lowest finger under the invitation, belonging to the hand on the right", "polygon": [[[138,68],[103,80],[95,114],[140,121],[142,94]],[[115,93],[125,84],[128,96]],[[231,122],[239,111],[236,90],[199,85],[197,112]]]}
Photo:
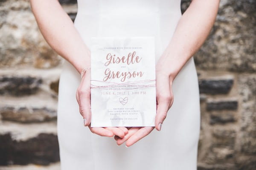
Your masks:
{"label": "lowest finger under the invitation, belonging to the hand on the right", "polygon": [[140,139],[147,136],[151,131],[154,129],[154,127],[147,126],[147,127],[141,127],[139,130],[137,130],[136,133],[134,133],[129,139],[126,141],[126,146],[131,146],[134,143],[138,142]]}

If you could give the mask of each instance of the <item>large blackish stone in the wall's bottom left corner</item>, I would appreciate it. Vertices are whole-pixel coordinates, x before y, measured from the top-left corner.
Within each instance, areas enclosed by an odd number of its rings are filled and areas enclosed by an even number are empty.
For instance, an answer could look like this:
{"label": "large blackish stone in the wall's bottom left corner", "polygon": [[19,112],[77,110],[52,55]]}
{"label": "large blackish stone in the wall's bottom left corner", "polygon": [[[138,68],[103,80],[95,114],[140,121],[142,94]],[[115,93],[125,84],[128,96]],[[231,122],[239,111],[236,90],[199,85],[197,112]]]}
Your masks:
{"label": "large blackish stone in the wall's bottom left corner", "polygon": [[0,165],[44,164],[59,161],[58,137],[40,133],[25,141],[13,140],[10,133],[0,135]]}

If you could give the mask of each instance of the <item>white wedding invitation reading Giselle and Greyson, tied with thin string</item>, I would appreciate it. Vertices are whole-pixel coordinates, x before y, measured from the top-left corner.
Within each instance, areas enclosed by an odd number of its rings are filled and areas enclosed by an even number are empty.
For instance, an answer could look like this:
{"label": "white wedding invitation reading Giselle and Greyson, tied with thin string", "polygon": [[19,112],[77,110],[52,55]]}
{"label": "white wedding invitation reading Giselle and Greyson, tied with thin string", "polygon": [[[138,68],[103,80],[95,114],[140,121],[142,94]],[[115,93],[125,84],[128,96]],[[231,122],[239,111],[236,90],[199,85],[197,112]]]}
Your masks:
{"label": "white wedding invitation reading Giselle and Greyson, tied with thin string", "polygon": [[154,126],[154,37],[91,38],[91,127]]}

